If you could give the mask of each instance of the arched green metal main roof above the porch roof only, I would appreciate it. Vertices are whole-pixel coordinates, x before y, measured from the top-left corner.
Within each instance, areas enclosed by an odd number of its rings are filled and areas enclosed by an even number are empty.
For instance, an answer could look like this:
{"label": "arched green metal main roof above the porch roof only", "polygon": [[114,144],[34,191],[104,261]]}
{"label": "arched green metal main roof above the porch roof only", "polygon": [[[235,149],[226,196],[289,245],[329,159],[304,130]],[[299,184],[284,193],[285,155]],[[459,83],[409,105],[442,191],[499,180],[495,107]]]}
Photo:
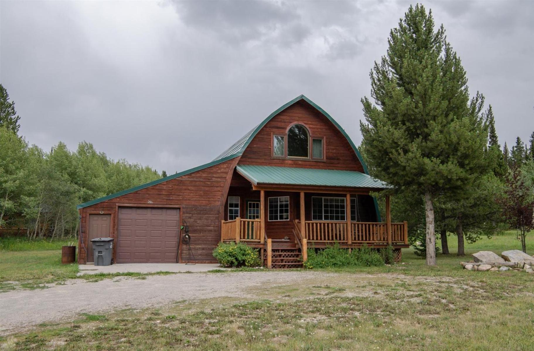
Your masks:
{"label": "arched green metal main roof above the porch roof only", "polygon": [[363,158],[362,158],[362,155],[360,155],[359,151],[358,151],[358,148],[356,147],[356,145],[354,144],[354,142],[352,142],[352,140],[350,139],[349,135],[345,132],[345,130],[339,125],[339,123],[337,123],[335,121],[334,118],[332,118],[332,116],[330,116],[328,113],[326,113],[325,110],[323,110],[322,108],[320,108],[315,102],[311,101],[310,99],[308,99],[307,97],[305,97],[304,95],[300,95],[299,97],[296,97],[295,99],[285,103],[284,105],[280,106],[276,111],[274,111],[273,113],[271,113],[267,118],[265,118],[262,123],[258,124],[256,127],[254,127],[254,129],[252,129],[251,131],[249,131],[247,134],[245,134],[243,137],[241,137],[238,141],[236,141],[235,143],[233,143],[232,146],[230,146],[228,149],[226,149],[221,155],[217,156],[214,161],[217,161],[218,159],[220,158],[223,158],[223,157],[237,157],[237,156],[241,156],[244,152],[245,152],[245,149],[247,148],[247,146],[249,145],[249,143],[254,139],[254,137],[256,136],[256,134],[258,132],[260,132],[260,130],[269,122],[271,121],[271,119],[278,115],[281,111],[285,110],[286,108],[288,108],[289,106],[292,106],[294,103],[298,102],[298,101],[306,101],[308,102],[313,108],[315,108],[316,110],[318,110],[323,116],[325,116],[335,127],[337,130],[339,130],[341,132],[341,134],[343,134],[343,137],[345,137],[345,139],[347,139],[347,141],[349,142],[352,150],[354,150],[355,154],[356,154],[356,157],[358,157],[358,160],[360,161],[360,163],[362,164],[362,167],[364,169],[364,172],[365,174],[369,174],[369,172],[367,171],[367,165],[365,164],[365,162],[363,161]]}

